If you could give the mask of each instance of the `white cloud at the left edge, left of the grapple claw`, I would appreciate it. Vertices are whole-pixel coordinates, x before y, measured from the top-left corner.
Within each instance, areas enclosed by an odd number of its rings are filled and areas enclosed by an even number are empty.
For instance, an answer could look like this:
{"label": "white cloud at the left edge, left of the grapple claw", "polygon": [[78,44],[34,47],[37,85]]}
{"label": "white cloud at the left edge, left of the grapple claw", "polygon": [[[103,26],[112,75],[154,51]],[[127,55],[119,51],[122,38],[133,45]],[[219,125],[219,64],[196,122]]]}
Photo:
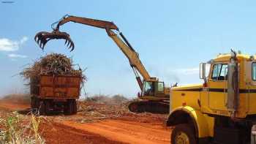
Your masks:
{"label": "white cloud at the left edge, left of the grapple claw", "polygon": [[0,51],[16,51],[28,40],[28,37],[23,37],[20,41],[14,41],[7,38],[0,38]]}

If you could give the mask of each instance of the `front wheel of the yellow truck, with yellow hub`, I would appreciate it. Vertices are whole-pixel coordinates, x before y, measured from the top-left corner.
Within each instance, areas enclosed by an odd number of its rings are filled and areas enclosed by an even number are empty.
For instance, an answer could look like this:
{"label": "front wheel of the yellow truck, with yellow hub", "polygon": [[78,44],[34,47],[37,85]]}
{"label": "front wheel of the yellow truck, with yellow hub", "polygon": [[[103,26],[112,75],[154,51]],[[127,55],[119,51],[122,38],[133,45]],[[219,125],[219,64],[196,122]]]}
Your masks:
{"label": "front wheel of the yellow truck, with yellow hub", "polygon": [[189,124],[178,124],[170,134],[172,144],[196,144],[195,132]]}

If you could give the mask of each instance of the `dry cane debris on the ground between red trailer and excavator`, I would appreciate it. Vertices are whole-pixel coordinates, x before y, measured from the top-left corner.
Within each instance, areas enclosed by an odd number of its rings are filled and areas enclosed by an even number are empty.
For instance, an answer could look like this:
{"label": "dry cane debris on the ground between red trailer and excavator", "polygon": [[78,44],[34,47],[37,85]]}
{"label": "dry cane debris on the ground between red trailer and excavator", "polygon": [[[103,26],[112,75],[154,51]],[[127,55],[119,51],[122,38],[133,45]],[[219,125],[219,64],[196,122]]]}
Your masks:
{"label": "dry cane debris on the ground between red trailer and excavator", "polygon": [[105,119],[122,119],[127,121],[164,121],[166,115],[152,113],[132,113],[128,110],[129,102],[135,99],[127,99],[122,95],[106,96],[97,94],[78,102],[78,113],[83,115],[77,121],[90,123]]}

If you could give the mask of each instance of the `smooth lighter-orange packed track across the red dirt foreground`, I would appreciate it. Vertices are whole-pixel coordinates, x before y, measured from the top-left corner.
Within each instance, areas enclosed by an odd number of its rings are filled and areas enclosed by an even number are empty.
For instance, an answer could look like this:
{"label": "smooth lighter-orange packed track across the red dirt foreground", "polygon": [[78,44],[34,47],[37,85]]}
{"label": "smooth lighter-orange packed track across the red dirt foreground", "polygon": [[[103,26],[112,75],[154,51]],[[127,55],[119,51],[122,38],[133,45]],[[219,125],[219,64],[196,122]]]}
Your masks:
{"label": "smooth lighter-orange packed track across the red dirt foreground", "polygon": [[170,143],[170,129],[161,124],[143,124],[121,120],[99,121],[90,124],[62,121],[61,124],[123,143]]}

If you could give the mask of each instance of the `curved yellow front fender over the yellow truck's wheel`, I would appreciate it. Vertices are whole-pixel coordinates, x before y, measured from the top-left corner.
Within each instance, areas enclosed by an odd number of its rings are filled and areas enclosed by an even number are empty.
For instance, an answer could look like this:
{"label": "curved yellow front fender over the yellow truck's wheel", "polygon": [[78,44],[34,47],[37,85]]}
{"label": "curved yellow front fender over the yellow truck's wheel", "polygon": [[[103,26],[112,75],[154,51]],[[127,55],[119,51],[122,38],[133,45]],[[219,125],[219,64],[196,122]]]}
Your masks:
{"label": "curved yellow front fender over the yellow truck's wheel", "polygon": [[195,128],[195,136],[209,137],[208,121],[206,117],[199,110],[192,107],[177,107],[172,110],[167,118],[167,126],[175,126],[176,124],[192,124]]}

